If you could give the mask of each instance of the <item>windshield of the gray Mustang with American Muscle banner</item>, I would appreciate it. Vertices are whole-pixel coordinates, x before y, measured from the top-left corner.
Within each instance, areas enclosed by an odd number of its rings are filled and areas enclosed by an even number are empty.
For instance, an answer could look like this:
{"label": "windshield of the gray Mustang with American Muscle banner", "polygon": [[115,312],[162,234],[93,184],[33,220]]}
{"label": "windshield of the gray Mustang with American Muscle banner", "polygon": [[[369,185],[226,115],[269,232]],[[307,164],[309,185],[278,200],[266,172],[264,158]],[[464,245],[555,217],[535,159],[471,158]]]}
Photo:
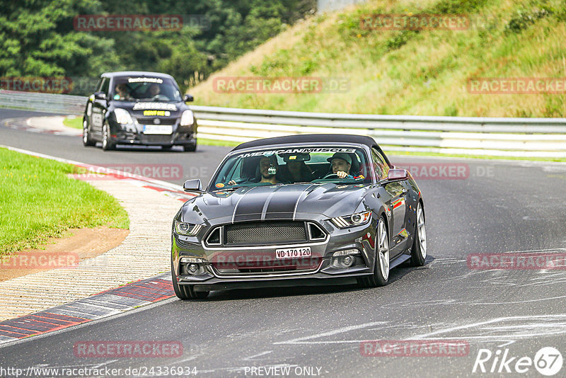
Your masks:
{"label": "windshield of the gray Mustang with American Muscle banner", "polygon": [[212,190],[289,183],[371,183],[366,154],[356,147],[288,147],[235,154]]}

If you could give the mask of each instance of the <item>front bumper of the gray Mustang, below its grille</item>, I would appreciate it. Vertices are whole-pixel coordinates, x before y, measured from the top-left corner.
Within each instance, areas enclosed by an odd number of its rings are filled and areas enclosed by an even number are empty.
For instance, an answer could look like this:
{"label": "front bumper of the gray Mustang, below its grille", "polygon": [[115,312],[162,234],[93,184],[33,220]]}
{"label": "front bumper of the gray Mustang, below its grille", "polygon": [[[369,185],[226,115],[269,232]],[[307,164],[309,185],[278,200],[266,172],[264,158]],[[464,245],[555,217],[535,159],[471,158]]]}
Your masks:
{"label": "front bumper of the gray Mustang, below its grille", "polygon": [[[311,221],[307,221],[311,222]],[[376,222],[359,227],[337,229],[330,221],[320,226],[328,233],[325,241],[304,244],[278,244],[270,246],[238,246],[207,248],[202,237],[207,230],[202,229],[198,236],[172,236],[173,279],[179,285],[193,285],[196,291],[226,290],[243,287],[277,287],[301,285],[345,285],[356,282],[357,277],[373,273],[374,241]],[[209,227],[209,229],[212,227]],[[246,262],[255,262],[258,256],[272,256],[279,248],[310,247],[312,256],[308,263],[291,270],[248,270]],[[350,268],[337,268],[332,265],[333,253],[357,249],[354,264]],[[226,273],[219,268],[218,261],[226,256],[239,256],[242,271]],[[180,258],[201,258],[202,270],[197,275],[188,273],[187,265],[180,263]],[[237,260],[238,258],[236,258]],[[315,263],[311,264],[314,261]],[[276,263],[277,260],[272,260]],[[275,264],[277,265],[277,264]],[[267,269],[270,270],[270,269]],[[250,273],[253,272],[253,273]]]}

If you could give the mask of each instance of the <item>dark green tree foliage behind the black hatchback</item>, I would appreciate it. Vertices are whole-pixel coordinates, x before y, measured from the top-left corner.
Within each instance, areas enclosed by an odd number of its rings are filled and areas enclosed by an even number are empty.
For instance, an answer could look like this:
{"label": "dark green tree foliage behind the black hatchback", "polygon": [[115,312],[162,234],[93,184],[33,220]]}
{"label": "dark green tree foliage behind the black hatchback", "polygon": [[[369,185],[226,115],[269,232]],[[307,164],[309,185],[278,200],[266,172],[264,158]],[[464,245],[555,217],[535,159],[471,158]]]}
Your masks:
{"label": "dark green tree foliage behind the black hatchback", "polygon": [[[312,13],[316,0],[0,0],[0,76],[164,71],[183,89]],[[180,30],[80,31],[79,15],[167,14]],[[204,27],[203,27],[204,26]]]}

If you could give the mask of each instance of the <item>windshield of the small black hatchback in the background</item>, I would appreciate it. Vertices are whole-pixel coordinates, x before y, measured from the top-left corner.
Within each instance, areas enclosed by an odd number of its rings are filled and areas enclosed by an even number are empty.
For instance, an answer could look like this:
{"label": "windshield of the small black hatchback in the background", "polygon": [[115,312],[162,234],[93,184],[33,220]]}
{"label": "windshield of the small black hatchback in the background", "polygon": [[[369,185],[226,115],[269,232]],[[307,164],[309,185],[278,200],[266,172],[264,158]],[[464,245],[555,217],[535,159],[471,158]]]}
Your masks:
{"label": "windshield of the small black hatchback in the background", "polygon": [[117,78],[110,98],[116,101],[182,101],[173,80],[157,77]]}

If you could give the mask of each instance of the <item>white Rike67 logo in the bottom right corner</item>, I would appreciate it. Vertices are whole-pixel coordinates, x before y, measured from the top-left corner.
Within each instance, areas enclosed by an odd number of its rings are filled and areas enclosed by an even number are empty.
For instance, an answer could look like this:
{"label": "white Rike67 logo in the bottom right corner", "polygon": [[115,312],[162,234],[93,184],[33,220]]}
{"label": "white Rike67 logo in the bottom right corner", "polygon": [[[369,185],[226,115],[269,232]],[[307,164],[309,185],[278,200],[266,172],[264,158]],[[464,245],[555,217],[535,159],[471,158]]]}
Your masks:
{"label": "white Rike67 logo in the bottom right corner", "polygon": [[473,373],[513,373],[524,374],[534,367],[539,373],[550,377],[562,370],[562,354],[553,347],[538,350],[534,358],[509,355],[509,349],[498,349],[492,353],[489,349],[480,349],[475,357]]}

